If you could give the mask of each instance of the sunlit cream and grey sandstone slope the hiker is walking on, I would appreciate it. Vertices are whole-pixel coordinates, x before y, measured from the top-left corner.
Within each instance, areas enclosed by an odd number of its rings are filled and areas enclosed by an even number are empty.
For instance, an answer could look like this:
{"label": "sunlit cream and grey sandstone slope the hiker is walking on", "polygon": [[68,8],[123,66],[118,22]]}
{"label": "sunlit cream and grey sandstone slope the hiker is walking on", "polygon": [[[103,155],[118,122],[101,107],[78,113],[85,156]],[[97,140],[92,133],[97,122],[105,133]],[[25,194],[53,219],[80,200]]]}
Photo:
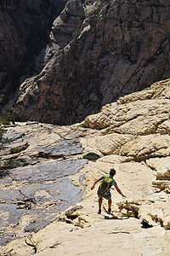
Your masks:
{"label": "sunlit cream and grey sandstone slope the hiker is walking on", "polygon": [[[1,255],[169,255],[169,88],[169,79],[152,84],[75,125],[7,127],[13,143],[22,139],[29,146],[1,152]],[[90,152],[99,159],[84,159]],[[29,165],[4,170],[10,159]],[[90,188],[113,167],[127,198],[111,189],[111,214],[104,200],[99,215],[98,186]],[[76,194],[69,197],[71,191]],[[79,195],[82,201],[74,202]]]}

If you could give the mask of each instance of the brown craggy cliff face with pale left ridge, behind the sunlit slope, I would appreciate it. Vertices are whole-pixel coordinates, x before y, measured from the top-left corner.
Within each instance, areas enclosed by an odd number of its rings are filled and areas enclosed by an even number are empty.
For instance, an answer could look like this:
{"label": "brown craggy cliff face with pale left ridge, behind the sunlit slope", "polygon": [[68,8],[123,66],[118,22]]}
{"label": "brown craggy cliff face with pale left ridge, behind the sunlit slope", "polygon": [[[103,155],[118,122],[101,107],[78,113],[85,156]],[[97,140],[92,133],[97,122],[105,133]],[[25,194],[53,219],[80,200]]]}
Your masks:
{"label": "brown craggy cliff face with pale left ridge, behind the sunlit slope", "polygon": [[71,124],[167,79],[169,12],[165,0],[69,1],[54,20],[47,65],[20,86],[18,118]]}

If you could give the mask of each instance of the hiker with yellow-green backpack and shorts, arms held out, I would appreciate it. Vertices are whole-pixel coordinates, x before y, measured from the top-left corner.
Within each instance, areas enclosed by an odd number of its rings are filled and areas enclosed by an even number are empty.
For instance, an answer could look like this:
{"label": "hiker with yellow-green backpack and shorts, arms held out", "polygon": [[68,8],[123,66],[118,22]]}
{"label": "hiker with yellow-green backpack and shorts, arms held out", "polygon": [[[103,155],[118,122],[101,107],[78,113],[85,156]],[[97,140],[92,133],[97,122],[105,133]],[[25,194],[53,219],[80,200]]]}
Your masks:
{"label": "hiker with yellow-green backpack and shorts, arms held out", "polygon": [[102,177],[99,177],[98,180],[94,182],[94,185],[91,187],[91,189],[94,189],[94,186],[99,183],[99,181],[102,181],[99,185],[98,189],[98,197],[99,197],[99,211],[98,214],[101,213],[101,205],[103,201],[103,197],[108,200],[108,213],[111,213],[111,186],[115,186],[116,191],[122,195],[122,197],[126,197],[126,195],[123,195],[121,190],[118,188],[116,181],[114,180],[113,176],[116,174],[115,169],[111,169],[109,175],[105,175]]}

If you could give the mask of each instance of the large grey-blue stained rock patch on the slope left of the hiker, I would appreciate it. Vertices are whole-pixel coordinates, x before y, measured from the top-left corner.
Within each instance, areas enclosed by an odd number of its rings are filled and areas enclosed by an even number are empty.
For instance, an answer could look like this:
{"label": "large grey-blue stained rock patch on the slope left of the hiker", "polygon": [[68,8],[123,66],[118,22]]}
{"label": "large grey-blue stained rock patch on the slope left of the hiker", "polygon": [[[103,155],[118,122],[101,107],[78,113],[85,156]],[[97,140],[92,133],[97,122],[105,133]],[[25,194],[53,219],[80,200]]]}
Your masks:
{"label": "large grey-blue stained rock patch on the slope left of the hiker", "polygon": [[[27,234],[42,229],[59,211],[81,201],[83,190],[75,186],[69,176],[76,174],[87,162],[84,159],[53,160],[8,171],[7,177],[0,180],[0,224],[5,230],[0,244],[13,239],[5,235],[10,225],[17,225],[20,230],[23,213],[30,219],[22,228]],[[21,236],[25,236],[23,234]],[[19,236],[20,232],[16,237]]]}

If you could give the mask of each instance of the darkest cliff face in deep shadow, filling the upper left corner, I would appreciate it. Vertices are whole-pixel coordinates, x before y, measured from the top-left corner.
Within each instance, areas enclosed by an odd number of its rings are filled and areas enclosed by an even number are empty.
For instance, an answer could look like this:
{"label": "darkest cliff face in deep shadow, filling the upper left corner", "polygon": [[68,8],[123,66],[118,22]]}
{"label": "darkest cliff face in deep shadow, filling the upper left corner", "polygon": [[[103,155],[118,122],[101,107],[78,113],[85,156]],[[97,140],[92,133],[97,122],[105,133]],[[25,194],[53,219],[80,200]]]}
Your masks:
{"label": "darkest cliff face in deep shadow, filling the upper left corner", "polygon": [[[64,1],[63,1],[64,2]],[[0,93],[19,83],[20,76],[47,42],[53,11],[62,1],[3,0],[0,3]]]}

